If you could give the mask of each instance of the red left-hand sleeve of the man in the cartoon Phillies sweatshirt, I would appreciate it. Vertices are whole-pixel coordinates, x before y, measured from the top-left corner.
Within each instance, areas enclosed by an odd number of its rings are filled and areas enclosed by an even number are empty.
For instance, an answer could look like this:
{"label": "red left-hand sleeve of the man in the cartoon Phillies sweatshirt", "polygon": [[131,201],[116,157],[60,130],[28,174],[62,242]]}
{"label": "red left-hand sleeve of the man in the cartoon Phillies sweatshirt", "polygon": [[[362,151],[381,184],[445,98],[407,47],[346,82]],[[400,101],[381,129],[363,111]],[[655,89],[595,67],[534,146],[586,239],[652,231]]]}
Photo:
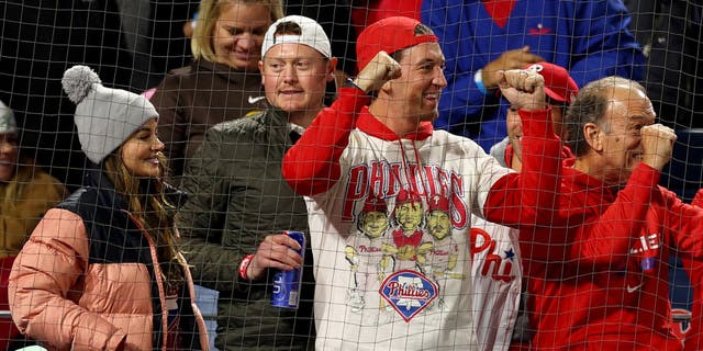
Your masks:
{"label": "red left-hand sleeve of the man in the cartoon Phillies sweatshirt", "polygon": [[286,181],[301,195],[325,192],[339,180],[339,157],[349,143],[356,118],[370,98],[355,88],[339,89],[339,98],[323,109],[283,157]]}

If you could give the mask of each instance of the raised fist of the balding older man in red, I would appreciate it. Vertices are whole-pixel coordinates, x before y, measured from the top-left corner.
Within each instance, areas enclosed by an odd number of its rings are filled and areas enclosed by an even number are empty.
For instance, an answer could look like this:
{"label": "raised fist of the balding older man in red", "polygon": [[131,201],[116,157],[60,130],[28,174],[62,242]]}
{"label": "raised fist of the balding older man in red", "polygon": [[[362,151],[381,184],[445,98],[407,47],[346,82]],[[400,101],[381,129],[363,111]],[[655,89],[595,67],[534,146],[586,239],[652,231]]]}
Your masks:
{"label": "raised fist of the balding older man in red", "polygon": [[661,124],[644,126],[641,133],[641,161],[661,171],[671,159],[673,143],[677,134],[670,127]]}

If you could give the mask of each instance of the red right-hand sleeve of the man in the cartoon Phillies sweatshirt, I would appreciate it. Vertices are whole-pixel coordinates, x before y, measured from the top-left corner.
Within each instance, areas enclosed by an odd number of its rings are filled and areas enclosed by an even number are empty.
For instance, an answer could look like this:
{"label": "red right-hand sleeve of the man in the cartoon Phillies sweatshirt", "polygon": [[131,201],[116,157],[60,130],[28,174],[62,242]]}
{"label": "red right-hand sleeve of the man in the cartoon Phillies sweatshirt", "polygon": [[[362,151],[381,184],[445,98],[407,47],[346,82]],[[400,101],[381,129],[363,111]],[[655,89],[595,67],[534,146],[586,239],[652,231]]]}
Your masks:
{"label": "red right-hand sleeve of the man in the cartoon Phillies sweatshirt", "polygon": [[524,227],[550,225],[561,173],[561,141],[551,126],[551,107],[518,111],[523,122],[523,169],[499,179],[484,204],[490,222]]}

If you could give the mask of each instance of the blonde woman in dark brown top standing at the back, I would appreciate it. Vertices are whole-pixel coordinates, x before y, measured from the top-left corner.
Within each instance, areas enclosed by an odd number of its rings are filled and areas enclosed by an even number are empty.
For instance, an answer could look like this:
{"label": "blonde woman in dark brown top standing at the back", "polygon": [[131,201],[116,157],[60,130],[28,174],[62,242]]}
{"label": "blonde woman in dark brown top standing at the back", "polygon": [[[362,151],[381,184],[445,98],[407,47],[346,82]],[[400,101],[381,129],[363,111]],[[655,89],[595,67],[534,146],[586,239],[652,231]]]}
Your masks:
{"label": "blonde woman in dark brown top standing at the back", "polygon": [[264,34],[283,16],[281,0],[203,0],[191,38],[193,61],[169,72],[152,101],[179,185],[205,131],[265,107],[258,61]]}

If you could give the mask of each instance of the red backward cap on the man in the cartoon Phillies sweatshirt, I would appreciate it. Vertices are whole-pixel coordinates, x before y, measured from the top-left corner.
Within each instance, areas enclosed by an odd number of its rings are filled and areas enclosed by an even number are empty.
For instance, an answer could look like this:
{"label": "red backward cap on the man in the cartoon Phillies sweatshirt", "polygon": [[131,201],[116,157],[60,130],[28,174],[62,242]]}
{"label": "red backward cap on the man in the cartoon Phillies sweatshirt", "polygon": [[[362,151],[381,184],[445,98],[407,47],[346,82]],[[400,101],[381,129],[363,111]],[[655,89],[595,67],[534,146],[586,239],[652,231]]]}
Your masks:
{"label": "red backward cap on the man in the cartoon Phillies sweatshirt", "polygon": [[361,71],[378,52],[393,54],[422,43],[437,43],[432,34],[415,34],[420,21],[405,16],[391,16],[369,25],[356,41],[356,66]]}

